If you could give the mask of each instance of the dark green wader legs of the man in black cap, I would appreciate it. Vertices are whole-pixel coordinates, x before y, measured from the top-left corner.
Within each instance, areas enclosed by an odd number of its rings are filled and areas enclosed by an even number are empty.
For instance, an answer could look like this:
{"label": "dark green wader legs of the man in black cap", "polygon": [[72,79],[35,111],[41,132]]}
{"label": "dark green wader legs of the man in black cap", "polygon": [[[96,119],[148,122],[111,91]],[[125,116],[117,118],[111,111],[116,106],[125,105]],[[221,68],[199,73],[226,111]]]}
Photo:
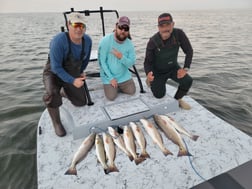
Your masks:
{"label": "dark green wader legs of the man in black cap", "polygon": [[177,78],[177,71],[180,67],[176,67],[169,73],[157,74],[154,72],[154,80],[151,82],[151,91],[156,98],[162,98],[166,93],[166,82],[170,78],[179,84],[178,90],[174,96],[175,99],[181,99],[187,94],[192,86],[193,79],[186,74],[183,78]]}

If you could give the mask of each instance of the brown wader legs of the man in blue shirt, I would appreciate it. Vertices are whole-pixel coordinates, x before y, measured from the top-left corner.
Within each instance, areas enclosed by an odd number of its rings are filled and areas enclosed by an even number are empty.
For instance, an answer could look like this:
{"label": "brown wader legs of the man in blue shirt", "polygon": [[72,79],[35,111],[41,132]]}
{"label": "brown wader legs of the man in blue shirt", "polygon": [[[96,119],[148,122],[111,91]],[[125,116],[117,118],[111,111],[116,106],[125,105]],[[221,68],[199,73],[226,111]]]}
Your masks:
{"label": "brown wader legs of the man in blue shirt", "polygon": [[46,107],[58,108],[62,105],[62,96],[60,95],[62,87],[73,105],[84,106],[87,104],[84,87],[76,88],[72,84],[65,83],[51,71],[44,71],[43,82],[46,90],[43,101]]}

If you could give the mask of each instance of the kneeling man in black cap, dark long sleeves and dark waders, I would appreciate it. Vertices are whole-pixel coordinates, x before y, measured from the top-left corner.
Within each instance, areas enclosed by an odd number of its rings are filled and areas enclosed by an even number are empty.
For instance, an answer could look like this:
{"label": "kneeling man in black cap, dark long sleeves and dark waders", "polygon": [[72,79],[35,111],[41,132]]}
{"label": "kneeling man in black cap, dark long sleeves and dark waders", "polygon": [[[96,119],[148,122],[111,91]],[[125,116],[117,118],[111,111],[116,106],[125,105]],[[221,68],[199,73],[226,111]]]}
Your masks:
{"label": "kneeling man in black cap, dark long sleeves and dark waders", "polygon": [[[147,75],[147,84],[156,98],[162,98],[166,93],[166,82],[169,78],[179,84],[174,96],[183,109],[191,109],[190,105],[182,100],[189,91],[193,79],[188,75],[192,62],[193,49],[185,33],[174,28],[171,14],[163,13],[158,17],[158,32],[153,35],[146,48],[144,69]],[[178,64],[179,47],[185,53],[184,67]]]}

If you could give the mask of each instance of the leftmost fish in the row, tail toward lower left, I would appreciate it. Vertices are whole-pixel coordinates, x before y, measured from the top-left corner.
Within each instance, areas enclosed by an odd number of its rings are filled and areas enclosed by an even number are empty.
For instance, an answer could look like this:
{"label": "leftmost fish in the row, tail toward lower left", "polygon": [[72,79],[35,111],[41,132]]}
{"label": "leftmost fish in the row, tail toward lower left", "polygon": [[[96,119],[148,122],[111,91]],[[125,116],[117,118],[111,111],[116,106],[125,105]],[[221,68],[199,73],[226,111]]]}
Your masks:
{"label": "leftmost fish in the row, tail toward lower left", "polygon": [[94,145],[94,141],[95,133],[91,133],[84,139],[77,152],[75,152],[70,168],[65,173],[66,175],[77,175],[76,165],[87,156]]}

